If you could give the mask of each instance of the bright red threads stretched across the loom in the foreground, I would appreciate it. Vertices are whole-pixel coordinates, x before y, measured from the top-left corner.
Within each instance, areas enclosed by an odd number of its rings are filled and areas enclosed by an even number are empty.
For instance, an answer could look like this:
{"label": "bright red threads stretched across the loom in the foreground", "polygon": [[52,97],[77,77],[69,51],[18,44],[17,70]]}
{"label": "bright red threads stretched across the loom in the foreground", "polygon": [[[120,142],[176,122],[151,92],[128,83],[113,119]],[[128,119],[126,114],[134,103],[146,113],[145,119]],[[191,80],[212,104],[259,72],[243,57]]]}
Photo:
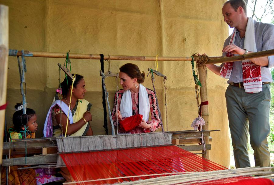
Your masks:
{"label": "bright red threads stretched across the loom in the foreground", "polygon": [[[74,180],[97,180],[93,182],[76,183],[81,185],[106,183],[113,184],[123,181],[134,181],[157,177],[143,176],[144,174],[197,172],[227,169],[219,164],[204,159],[177,146],[69,153],[60,154],[60,156],[64,160]],[[140,177],[128,177],[138,175]],[[100,180],[112,177],[125,178]],[[216,178],[218,178],[218,176],[216,176]],[[192,180],[189,179],[189,181],[191,182]],[[234,177],[212,180],[203,183],[193,183],[193,185],[217,184],[274,185],[273,182],[269,179],[254,177]]]}

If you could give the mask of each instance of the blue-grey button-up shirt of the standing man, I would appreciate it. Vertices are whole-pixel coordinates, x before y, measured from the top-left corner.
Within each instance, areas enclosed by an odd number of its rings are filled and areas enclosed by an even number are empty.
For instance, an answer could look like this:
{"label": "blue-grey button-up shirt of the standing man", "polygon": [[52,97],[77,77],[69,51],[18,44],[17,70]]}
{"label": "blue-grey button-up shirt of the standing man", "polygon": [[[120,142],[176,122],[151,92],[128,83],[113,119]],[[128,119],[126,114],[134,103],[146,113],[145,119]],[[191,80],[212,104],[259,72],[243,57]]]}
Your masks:
{"label": "blue-grey button-up shirt of the standing man", "polygon": [[[263,22],[257,22],[254,20],[254,28],[255,28],[255,42],[257,51],[263,50],[272,50],[274,49],[274,25],[267,24]],[[224,42],[224,46],[227,46],[230,41],[229,36]],[[244,49],[244,37],[241,38],[238,30],[236,30],[236,37],[234,44],[241,49]],[[223,53],[223,56],[226,56],[226,53]],[[237,56],[234,54],[234,56]],[[223,66],[222,63],[221,66]],[[261,74],[262,74],[262,82],[272,82],[272,75],[270,72],[270,68],[274,67],[274,56],[268,57],[268,66],[261,66]],[[233,63],[233,69],[228,79],[227,83],[234,82],[240,83],[243,82],[243,69],[242,69],[242,61],[235,61]]]}

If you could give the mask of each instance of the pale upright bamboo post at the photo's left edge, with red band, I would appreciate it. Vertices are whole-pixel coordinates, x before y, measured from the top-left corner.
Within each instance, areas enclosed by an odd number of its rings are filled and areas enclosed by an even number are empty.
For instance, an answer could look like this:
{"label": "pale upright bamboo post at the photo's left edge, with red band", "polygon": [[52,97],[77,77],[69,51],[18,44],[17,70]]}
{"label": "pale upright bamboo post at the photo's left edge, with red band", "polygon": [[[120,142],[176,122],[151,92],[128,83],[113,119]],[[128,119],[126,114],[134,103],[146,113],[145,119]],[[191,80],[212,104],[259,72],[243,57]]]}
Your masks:
{"label": "pale upright bamboo post at the photo's left edge, with red band", "polygon": [[[9,56],[9,8],[0,5],[0,106],[6,103]],[[5,129],[5,112],[0,110],[0,156],[3,153],[3,139]],[[2,157],[0,158],[2,166]],[[1,172],[0,172],[1,179]]]}

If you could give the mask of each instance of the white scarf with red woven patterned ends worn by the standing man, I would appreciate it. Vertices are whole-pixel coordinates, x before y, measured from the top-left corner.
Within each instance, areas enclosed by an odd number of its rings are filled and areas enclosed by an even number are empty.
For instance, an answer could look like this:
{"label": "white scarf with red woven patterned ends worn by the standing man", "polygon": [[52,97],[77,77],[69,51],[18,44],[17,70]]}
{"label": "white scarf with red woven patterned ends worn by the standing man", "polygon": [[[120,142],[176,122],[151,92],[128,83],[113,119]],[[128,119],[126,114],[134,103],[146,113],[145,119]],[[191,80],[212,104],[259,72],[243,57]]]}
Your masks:
{"label": "white scarf with red woven patterned ends worn by the standing man", "polygon": [[[234,44],[236,28],[234,28],[229,44]],[[253,52],[257,52],[255,43],[254,20],[248,17],[248,23],[244,36],[244,48]],[[233,68],[233,62],[225,63],[220,71],[221,77],[230,78]],[[262,91],[261,66],[252,63],[250,60],[242,61],[243,69],[243,85],[246,93],[258,93]]]}

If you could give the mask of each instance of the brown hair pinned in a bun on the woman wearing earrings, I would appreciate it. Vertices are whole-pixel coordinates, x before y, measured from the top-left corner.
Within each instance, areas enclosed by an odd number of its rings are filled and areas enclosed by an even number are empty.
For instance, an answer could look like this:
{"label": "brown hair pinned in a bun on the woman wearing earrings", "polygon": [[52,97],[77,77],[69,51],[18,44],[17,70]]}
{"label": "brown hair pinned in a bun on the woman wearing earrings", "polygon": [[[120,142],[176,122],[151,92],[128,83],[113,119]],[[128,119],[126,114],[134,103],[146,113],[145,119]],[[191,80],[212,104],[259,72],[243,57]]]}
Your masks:
{"label": "brown hair pinned in a bun on the woman wearing earrings", "polygon": [[126,73],[131,78],[137,78],[137,82],[142,84],[145,81],[145,72],[141,72],[139,67],[133,63],[126,63],[120,67],[120,72]]}

